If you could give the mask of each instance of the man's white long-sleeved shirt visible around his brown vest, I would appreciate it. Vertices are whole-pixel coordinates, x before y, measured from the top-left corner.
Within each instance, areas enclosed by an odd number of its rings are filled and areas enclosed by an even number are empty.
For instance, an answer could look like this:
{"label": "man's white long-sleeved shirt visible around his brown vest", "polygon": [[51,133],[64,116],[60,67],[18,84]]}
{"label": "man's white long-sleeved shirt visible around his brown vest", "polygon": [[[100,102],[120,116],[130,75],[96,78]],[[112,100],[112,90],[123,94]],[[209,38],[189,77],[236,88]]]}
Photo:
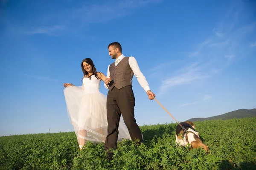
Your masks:
{"label": "man's white long-sleeved shirt visible around his brown vest", "polygon": [[[125,56],[122,54],[120,55],[117,59],[116,59],[116,63],[115,65],[117,65]],[[134,57],[129,57],[129,65],[131,67],[131,70],[134,73],[134,76],[138,79],[138,82],[140,83],[141,87],[147,92],[148,90],[150,90],[148,82],[145,78],[145,76],[142,74],[142,72],[140,71],[139,65],[137,63],[137,60]],[[107,78],[110,77],[110,73],[109,73],[109,66],[108,65],[108,73],[107,73]],[[106,85],[104,83],[105,88],[108,89],[108,85]]]}

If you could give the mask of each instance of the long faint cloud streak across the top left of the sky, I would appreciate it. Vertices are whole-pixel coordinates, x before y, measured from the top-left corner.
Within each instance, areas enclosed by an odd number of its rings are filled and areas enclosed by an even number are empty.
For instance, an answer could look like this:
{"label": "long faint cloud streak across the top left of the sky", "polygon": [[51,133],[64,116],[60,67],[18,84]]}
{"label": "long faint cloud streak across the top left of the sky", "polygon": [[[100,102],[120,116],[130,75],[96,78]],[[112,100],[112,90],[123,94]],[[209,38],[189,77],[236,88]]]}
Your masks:
{"label": "long faint cloud streak across the top left of the sky", "polygon": [[[115,18],[123,17],[131,14],[136,8],[143,8],[147,4],[161,3],[163,0],[106,0],[104,3],[95,3],[87,5],[84,2],[81,6],[73,8],[70,11],[61,11],[56,14],[46,14],[44,19],[38,18],[40,23],[35,23],[34,26],[22,26],[27,35],[47,34],[58,35],[61,31],[76,33],[84,31],[88,24],[105,23]],[[42,20],[46,20],[47,26],[44,26]],[[51,20],[54,25],[49,25]],[[41,26],[37,26],[41,25]],[[43,26],[42,26],[43,25]],[[75,31],[79,30],[79,31]]]}

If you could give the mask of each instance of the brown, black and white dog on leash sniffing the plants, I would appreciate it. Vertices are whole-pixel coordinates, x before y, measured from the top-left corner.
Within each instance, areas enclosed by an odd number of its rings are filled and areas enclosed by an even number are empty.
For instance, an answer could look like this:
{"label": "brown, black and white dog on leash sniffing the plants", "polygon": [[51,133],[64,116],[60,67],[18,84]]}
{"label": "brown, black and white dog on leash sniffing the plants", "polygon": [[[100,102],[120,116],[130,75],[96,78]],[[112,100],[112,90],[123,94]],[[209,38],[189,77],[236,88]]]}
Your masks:
{"label": "brown, black and white dog on leash sniffing the plants", "polygon": [[[185,130],[181,126],[183,126]],[[209,147],[206,144],[203,144],[202,140],[199,137],[199,133],[195,130],[195,124],[190,121],[180,122],[176,127],[176,144],[181,146],[186,146],[190,144],[192,149],[197,149],[204,147],[206,153],[209,153]]]}

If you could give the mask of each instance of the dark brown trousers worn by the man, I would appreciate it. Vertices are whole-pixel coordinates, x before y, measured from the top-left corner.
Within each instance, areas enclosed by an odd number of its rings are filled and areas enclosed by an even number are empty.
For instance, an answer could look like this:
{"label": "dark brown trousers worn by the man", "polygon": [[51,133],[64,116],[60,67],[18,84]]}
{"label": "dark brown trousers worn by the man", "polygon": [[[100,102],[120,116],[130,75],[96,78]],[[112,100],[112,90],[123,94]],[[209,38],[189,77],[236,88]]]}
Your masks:
{"label": "dark brown trousers worn by the man", "polygon": [[124,119],[128,128],[131,139],[139,139],[143,141],[140,127],[134,118],[135,97],[131,86],[125,86],[121,89],[114,87],[108,91],[107,96],[107,119],[108,119],[108,135],[105,141],[105,149],[116,149],[118,126],[120,116]]}

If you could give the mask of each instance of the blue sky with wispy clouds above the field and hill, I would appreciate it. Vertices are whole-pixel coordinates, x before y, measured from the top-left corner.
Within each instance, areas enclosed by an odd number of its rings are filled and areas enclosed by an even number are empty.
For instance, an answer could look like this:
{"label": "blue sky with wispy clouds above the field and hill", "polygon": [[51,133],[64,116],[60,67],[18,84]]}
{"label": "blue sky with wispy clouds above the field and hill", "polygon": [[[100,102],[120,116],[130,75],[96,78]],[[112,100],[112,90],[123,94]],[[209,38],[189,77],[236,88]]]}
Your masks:
{"label": "blue sky with wispy clouds above the field and hill", "polygon": [[[0,0],[0,136],[73,131],[63,83],[81,61],[107,74],[108,44],[134,56],[178,121],[256,108],[253,0]],[[138,125],[175,122],[136,77]],[[103,82],[100,90],[107,95]]]}

